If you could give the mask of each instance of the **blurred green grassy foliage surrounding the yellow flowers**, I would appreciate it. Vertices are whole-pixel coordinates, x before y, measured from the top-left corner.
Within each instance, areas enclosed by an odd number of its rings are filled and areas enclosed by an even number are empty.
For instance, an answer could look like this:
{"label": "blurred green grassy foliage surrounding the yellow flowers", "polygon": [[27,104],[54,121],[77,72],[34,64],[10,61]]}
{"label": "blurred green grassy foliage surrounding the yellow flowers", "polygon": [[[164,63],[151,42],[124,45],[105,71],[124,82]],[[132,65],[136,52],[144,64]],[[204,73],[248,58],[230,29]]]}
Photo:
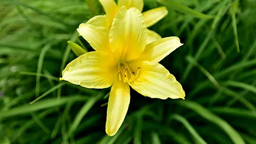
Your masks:
{"label": "blurred green grassy foliage surrounding the yellow flowers", "polygon": [[[169,14],[151,30],[184,43],[160,63],[186,100],[131,91],[125,121],[105,133],[110,89],[59,81],[67,41],[103,14],[95,0],[0,1],[0,143],[256,143],[256,1],[145,0]],[[29,102],[42,98],[33,104]]]}

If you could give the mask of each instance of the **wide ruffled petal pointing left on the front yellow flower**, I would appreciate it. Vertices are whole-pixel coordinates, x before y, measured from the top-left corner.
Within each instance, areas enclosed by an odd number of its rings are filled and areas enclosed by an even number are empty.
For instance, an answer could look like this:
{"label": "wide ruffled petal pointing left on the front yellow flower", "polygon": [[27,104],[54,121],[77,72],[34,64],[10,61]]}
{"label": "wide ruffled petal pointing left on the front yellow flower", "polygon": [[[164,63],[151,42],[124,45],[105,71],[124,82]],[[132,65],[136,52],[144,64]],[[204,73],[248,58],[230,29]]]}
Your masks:
{"label": "wide ruffled petal pointing left on the front yellow flower", "polygon": [[68,63],[62,80],[87,88],[103,89],[111,86],[117,71],[115,60],[106,52],[88,52]]}

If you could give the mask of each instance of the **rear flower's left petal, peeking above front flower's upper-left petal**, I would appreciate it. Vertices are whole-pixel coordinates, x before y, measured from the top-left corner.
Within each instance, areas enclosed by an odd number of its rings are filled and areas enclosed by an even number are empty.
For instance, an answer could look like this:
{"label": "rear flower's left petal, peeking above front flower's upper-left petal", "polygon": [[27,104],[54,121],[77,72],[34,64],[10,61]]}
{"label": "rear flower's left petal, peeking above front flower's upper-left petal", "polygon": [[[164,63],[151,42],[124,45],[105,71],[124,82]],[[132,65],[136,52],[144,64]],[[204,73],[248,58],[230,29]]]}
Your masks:
{"label": "rear flower's left petal, peeking above front flower's upper-left petal", "polygon": [[[96,15],[92,17],[90,20],[88,20],[86,23],[102,30],[109,30],[111,24],[108,23],[106,15]],[[85,23],[81,23],[81,25],[79,25],[79,28],[83,27],[84,24]]]}

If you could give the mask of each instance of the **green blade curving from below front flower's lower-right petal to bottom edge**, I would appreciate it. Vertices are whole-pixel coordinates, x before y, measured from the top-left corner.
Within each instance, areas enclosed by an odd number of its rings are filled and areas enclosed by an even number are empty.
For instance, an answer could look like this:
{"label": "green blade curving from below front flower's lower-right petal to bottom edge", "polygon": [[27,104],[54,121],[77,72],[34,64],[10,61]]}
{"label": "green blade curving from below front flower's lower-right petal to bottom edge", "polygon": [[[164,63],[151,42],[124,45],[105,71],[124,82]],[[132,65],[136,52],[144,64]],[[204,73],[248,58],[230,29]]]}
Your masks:
{"label": "green blade curving from below front flower's lower-right petal to bottom edge", "polygon": [[245,143],[241,135],[239,135],[239,133],[235,129],[233,129],[233,127],[231,127],[226,121],[213,114],[211,111],[207,110],[198,103],[186,100],[179,101],[179,104],[183,107],[195,111],[198,115],[219,126],[223,131],[228,134],[228,136],[234,143]]}

